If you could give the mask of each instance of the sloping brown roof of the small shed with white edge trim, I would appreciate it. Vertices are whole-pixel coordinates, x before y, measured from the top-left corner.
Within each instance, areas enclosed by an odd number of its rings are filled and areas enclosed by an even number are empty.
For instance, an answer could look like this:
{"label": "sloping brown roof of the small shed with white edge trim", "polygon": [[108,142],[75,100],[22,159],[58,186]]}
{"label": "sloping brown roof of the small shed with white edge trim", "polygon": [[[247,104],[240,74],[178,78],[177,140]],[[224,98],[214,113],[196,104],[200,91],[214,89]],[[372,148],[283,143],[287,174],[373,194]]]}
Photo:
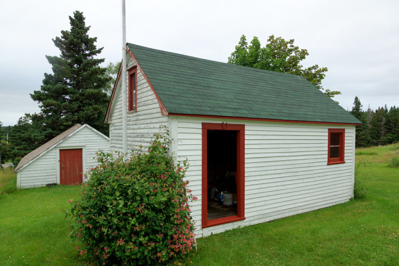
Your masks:
{"label": "sloping brown roof of the small shed with white edge trim", "polygon": [[43,145],[41,145],[40,147],[38,147],[37,149],[29,152],[28,154],[26,154],[18,163],[18,165],[16,166],[14,172],[18,172],[19,170],[21,170],[25,165],[27,165],[29,162],[37,159],[41,154],[43,154],[45,151],[51,149],[52,147],[56,146],[57,144],[59,144],[60,142],[62,142],[63,140],[65,140],[66,138],[68,138],[69,136],[71,136],[72,134],[74,134],[75,132],[78,131],[78,129],[80,130],[83,127],[88,127],[91,130],[97,132],[98,134],[100,134],[101,136],[109,139],[107,136],[105,136],[104,134],[102,134],[101,132],[97,131],[96,129],[92,128],[91,126],[84,124],[83,126],[80,124],[76,124],[73,127],[65,130],[64,132],[62,132],[61,134],[59,134],[58,136],[52,138],[51,140],[47,141],[46,143],[44,143]]}

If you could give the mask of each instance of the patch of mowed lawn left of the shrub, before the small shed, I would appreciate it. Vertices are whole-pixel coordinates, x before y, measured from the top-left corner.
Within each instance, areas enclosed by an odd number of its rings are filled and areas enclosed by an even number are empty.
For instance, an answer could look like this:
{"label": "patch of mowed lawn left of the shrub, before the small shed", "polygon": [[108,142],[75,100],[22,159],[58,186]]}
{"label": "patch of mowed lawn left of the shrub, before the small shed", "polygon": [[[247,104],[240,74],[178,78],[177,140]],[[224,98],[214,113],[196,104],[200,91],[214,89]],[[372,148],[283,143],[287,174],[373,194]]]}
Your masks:
{"label": "patch of mowed lawn left of the shrub, before the small shed", "polygon": [[0,265],[87,265],[64,219],[80,187],[57,186],[0,195]]}

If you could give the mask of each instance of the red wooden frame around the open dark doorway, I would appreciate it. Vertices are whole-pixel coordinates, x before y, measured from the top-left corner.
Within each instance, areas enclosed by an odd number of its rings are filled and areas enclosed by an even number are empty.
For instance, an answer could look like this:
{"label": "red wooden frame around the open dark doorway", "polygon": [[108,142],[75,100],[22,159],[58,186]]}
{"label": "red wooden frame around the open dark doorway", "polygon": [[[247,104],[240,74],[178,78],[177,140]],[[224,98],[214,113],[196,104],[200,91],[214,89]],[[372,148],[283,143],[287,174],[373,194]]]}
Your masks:
{"label": "red wooden frame around the open dark doorway", "polygon": [[[208,221],[208,171],[207,171],[207,130],[231,130],[237,132],[237,171],[236,171],[236,185],[237,185],[237,215],[218,218]],[[227,124],[227,123],[202,123],[202,228],[217,226],[236,221],[244,220],[244,195],[245,195],[245,125],[242,124]]]}

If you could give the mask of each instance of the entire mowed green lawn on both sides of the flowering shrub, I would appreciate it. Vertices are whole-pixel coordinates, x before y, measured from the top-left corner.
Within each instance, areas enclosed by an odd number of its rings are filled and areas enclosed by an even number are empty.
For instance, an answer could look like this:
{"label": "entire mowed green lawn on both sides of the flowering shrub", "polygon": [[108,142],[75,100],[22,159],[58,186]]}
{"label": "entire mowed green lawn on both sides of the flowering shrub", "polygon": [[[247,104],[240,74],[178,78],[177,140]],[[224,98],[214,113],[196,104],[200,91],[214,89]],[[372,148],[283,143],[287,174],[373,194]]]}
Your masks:
{"label": "entire mowed green lawn on both sides of the flowering shrub", "polygon": [[[399,265],[399,144],[356,153],[366,198],[199,239],[186,265]],[[61,211],[79,189],[0,195],[0,265],[87,265]]]}

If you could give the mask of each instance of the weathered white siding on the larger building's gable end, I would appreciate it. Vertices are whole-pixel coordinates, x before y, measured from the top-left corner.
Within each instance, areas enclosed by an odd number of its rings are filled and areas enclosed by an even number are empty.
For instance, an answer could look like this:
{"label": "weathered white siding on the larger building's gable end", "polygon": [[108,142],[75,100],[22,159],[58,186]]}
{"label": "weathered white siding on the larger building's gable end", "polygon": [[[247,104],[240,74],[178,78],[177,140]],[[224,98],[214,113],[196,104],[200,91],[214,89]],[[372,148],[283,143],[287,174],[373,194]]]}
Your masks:
{"label": "weathered white siding on the larger building's gable end", "polygon": [[[129,54],[127,57],[129,59],[127,68],[129,69],[135,65],[135,62]],[[119,93],[115,96],[116,98],[114,98],[116,102],[114,109],[111,112],[110,119],[110,150],[120,152],[123,151],[121,84],[122,80],[118,83]],[[128,92],[126,92],[126,94],[128,94]],[[163,129],[160,129],[161,125],[168,125],[168,116],[161,115],[158,100],[138,68],[137,110],[127,113],[128,152],[131,152],[132,149],[139,149],[140,145],[147,147],[150,144],[153,135],[163,131]]]}

